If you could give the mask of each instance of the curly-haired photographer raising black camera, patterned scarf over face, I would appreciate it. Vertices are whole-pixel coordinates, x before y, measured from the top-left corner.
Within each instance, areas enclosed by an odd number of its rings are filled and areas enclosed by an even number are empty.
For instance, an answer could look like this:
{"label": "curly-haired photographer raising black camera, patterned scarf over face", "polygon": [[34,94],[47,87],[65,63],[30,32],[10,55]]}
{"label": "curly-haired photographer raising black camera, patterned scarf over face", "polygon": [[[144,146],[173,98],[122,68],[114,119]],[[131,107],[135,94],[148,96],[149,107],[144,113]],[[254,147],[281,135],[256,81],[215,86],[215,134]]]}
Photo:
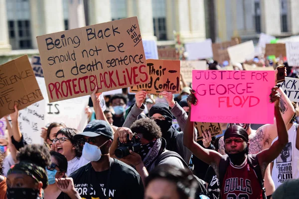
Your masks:
{"label": "curly-haired photographer raising black camera, patterned scarf over face", "polygon": [[[131,128],[121,127],[114,134],[111,156],[135,166],[143,182],[157,165],[169,164],[178,168],[187,167],[184,160],[175,152],[164,156],[166,141],[162,138],[159,126],[154,120],[142,118],[136,120]],[[177,157],[176,157],[177,156]]]}

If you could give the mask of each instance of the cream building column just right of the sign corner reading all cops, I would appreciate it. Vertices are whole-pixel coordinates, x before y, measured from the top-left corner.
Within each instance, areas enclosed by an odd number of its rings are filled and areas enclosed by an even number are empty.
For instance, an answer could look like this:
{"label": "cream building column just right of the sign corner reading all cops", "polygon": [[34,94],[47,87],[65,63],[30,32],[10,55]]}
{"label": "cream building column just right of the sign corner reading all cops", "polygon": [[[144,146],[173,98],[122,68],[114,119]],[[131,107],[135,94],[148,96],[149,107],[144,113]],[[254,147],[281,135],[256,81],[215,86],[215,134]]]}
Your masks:
{"label": "cream building column just right of the sign corner reading all cops", "polygon": [[151,0],[137,0],[137,16],[142,39],[157,40],[153,32]]}

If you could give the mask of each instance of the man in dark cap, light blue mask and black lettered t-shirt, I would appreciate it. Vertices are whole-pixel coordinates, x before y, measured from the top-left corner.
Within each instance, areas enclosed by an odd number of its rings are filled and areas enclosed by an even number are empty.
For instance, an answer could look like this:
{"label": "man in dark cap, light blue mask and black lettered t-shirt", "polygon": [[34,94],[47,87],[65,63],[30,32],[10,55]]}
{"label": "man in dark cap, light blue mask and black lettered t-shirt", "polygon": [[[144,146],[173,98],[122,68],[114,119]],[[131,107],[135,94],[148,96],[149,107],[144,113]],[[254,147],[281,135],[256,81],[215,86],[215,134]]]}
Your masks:
{"label": "man in dark cap, light blue mask and black lettered t-shirt", "polygon": [[90,161],[70,175],[81,198],[142,199],[140,175],[129,165],[109,155],[113,131],[104,120],[93,120],[74,139],[83,139],[82,156]]}

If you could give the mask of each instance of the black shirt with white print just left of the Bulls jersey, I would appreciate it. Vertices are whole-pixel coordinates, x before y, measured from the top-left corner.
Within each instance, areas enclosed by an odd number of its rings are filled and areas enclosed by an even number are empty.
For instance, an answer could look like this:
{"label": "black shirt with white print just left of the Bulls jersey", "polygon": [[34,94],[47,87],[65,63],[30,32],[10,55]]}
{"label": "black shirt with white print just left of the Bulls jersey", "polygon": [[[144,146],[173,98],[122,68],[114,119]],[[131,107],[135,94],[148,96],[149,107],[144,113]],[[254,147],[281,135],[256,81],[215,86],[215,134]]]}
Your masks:
{"label": "black shirt with white print just left of the Bulls jersey", "polygon": [[207,173],[204,177],[204,181],[208,183],[208,197],[210,199],[219,199],[220,197],[220,187],[217,175],[214,169],[209,166]]}

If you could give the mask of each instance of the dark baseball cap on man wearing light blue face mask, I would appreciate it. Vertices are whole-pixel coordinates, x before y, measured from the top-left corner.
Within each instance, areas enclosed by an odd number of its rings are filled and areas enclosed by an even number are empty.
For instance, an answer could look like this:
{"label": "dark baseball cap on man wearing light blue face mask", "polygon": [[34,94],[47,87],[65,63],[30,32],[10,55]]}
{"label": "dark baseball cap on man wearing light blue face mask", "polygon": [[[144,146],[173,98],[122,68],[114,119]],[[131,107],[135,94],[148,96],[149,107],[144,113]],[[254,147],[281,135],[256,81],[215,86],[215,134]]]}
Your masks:
{"label": "dark baseball cap on man wearing light blue face mask", "polygon": [[97,137],[103,135],[113,140],[113,132],[110,124],[104,120],[92,120],[89,122],[82,133],[74,135],[74,139],[80,139],[83,136],[87,137]]}

